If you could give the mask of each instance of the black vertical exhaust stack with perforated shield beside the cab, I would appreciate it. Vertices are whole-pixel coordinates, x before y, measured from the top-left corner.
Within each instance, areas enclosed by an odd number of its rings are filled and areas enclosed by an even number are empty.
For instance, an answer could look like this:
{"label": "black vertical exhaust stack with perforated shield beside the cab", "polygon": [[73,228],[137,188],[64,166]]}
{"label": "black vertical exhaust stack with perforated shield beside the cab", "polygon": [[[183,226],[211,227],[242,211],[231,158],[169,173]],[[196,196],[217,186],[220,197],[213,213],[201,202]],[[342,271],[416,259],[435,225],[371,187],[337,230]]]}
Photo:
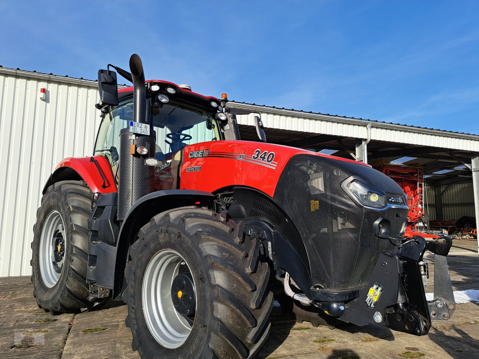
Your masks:
{"label": "black vertical exhaust stack with perforated shield beside the cab", "polygon": [[[118,179],[118,214],[119,221],[125,218],[133,203],[155,190],[155,168],[147,166],[145,159],[155,157],[156,134],[149,126],[149,101],[145,86],[145,74],[140,56],[130,57],[130,71],[133,82],[133,121],[120,131],[119,179]],[[149,135],[133,133],[135,123],[149,126]],[[131,148],[134,146],[134,154]],[[148,148],[148,154],[140,155],[136,148]]]}

